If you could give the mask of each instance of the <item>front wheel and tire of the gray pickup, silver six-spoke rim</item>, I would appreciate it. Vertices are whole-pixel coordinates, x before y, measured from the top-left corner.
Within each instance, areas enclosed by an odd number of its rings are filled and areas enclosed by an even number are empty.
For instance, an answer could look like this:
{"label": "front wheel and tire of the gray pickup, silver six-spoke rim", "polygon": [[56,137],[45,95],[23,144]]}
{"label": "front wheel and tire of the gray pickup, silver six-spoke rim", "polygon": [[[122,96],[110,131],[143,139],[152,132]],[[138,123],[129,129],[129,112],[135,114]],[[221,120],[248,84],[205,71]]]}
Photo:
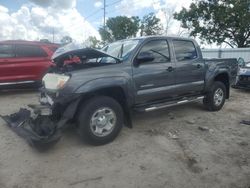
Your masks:
{"label": "front wheel and tire of the gray pickup, silver six-spoke rim", "polygon": [[124,124],[123,110],[113,98],[97,96],[84,103],[78,115],[78,132],[92,145],[113,141]]}

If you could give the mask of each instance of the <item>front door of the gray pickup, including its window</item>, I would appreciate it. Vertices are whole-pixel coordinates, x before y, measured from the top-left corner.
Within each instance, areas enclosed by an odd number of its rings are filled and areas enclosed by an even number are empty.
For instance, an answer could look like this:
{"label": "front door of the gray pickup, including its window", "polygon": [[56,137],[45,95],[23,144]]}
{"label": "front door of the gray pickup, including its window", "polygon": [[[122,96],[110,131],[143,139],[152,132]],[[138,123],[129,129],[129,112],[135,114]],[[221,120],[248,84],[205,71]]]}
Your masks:
{"label": "front door of the gray pickup, including its window", "polygon": [[[151,54],[147,62],[137,62],[140,54]],[[165,99],[173,94],[174,67],[167,40],[151,40],[140,49],[133,64],[137,104]]]}

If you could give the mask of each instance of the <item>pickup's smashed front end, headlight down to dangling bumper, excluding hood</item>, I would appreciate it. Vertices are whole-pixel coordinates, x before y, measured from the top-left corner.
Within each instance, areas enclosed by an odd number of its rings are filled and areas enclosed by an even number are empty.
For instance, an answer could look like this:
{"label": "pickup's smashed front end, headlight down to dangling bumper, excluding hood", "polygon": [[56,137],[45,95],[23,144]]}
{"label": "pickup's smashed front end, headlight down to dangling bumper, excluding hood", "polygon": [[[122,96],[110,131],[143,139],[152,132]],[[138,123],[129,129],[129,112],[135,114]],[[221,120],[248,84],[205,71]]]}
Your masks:
{"label": "pickup's smashed front end, headlight down to dangling bumper, excluding hood", "polygon": [[21,108],[17,113],[1,117],[31,146],[39,147],[57,142],[66,122],[72,117],[63,112],[68,106],[58,110],[62,99],[57,99],[55,103],[51,96],[56,95],[69,78],[67,75],[46,74],[43,78],[44,87],[41,89],[39,105],[28,105],[29,109]]}

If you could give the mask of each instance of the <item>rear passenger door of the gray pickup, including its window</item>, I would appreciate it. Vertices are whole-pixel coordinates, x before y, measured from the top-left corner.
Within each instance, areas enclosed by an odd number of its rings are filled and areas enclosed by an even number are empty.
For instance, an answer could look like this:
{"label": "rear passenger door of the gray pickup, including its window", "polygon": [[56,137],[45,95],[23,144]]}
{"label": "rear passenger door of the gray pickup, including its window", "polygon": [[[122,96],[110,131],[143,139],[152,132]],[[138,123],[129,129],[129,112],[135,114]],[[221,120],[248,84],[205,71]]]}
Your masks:
{"label": "rear passenger door of the gray pickup, including its window", "polygon": [[176,94],[196,94],[203,90],[205,64],[190,40],[173,40]]}

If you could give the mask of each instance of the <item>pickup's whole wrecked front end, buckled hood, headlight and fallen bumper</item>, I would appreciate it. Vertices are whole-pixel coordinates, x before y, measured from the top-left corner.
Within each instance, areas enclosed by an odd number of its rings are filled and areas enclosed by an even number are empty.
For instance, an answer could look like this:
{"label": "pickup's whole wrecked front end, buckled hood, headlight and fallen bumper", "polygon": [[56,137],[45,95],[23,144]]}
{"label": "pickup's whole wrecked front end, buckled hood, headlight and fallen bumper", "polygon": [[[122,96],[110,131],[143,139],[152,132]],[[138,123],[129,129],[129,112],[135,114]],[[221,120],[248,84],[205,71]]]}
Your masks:
{"label": "pickup's whole wrecked front end, buckled hood, headlight and fallen bumper", "polygon": [[[91,66],[86,65],[88,59],[109,56],[91,48],[59,48],[52,57],[56,66],[43,77],[40,105],[28,105],[30,109],[21,108],[17,113],[1,117],[13,131],[32,146],[57,142],[67,122],[74,118],[81,100],[81,95],[74,93],[77,84],[68,84],[68,88],[65,88],[71,79],[70,71],[96,66],[93,63]],[[72,57],[77,57],[80,63],[72,65]],[[67,60],[70,60],[70,65],[64,64]],[[63,89],[66,92],[62,92]]]}

